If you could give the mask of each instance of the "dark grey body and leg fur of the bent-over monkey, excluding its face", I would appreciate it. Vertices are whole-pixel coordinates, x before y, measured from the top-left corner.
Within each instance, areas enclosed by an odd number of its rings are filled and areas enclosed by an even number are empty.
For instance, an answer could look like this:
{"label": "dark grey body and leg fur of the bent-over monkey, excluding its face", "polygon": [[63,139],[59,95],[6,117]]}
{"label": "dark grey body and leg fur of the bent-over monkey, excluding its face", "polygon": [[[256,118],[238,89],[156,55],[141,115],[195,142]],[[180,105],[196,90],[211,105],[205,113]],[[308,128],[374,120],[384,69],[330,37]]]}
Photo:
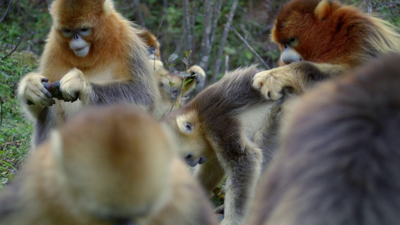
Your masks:
{"label": "dark grey body and leg fur of the bent-over monkey, excluding its face", "polygon": [[243,134],[244,124],[239,120],[250,107],[269,102],[252,88],[252,77],[257,72],[260,70],[254,65],[228,72],[186,106],[164,118],[174,124],[180,115],[196,112],[205,142],[212,146],[218,160],[198,165],[194,176],[210,193],[227,174],[224,220],[232,224],[241,223],[246,215],[262,170],[263,155],[269,155]]}

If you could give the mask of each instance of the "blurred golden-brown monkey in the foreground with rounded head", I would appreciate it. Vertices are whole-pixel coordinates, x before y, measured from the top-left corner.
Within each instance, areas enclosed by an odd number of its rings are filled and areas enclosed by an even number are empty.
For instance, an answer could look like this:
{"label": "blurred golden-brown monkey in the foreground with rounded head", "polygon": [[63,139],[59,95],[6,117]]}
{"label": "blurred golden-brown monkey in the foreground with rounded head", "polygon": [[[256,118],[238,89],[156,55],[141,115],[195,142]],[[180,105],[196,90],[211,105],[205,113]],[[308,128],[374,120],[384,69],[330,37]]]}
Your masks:
{"label": "blurred golden-brown monkey in the foreground with rounded head", "polygon": [[132,106],[83,109],[0,192],[0,224],[216,225],[170,133]]}

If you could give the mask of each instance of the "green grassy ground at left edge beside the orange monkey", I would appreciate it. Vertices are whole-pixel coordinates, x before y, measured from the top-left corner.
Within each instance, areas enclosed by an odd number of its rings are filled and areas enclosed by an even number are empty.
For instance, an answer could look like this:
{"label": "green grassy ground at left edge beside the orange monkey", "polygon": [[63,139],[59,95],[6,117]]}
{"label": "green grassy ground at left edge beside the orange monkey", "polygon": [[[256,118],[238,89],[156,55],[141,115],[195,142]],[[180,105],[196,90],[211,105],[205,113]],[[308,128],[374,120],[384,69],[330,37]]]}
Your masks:
{"label": "green grassy ground at left edge beside the orange monkey", "polygon": [[[0,58],[5,54],[0,53]],[[29,151],[32,123],[22,115],[15,89],[20,77],[37,63],[38,57],[26,52],[0,60],[0,189],[18,173]]]}

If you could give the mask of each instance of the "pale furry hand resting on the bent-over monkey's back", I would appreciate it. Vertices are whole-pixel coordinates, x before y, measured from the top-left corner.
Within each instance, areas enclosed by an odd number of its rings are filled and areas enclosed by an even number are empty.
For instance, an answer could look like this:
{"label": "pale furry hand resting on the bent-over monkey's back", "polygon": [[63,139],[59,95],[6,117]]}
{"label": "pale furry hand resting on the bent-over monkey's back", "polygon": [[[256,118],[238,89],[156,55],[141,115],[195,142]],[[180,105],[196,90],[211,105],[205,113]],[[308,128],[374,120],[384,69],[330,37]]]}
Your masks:
{"label": "pale furry hand resting on the bent-over monkey's back", "polygon": [[287,66],[257,73],[253,77],[253,88],[259,90],[267,99],[279,100],[284,96],[284,89],[296,88],[294,73],[288,71]]}

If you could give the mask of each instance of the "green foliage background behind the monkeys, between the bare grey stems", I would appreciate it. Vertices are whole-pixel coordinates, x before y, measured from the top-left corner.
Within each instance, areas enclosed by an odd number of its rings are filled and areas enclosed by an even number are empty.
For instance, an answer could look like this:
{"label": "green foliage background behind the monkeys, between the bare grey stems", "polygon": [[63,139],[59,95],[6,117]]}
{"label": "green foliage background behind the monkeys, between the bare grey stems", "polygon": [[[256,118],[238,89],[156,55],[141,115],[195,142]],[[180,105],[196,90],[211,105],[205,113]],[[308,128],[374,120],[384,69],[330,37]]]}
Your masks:
{"label": "green foliage background behind the monkeys, between the bare grey stems", "polygon": [[[28,4],[30,2],[30,4]],[[138,21],[138,12],[144,18],[144,26],[154,34],[158,34],[161,42],[161,56],[163,61],[173,53],[182,56],[186,49],[182,43],[182,1],[147,0],[140,1],[136,7],[131,0],[115,0],[118,12],[130,20]],[[203,30],[203,1],[190,2],[190,14],[193,22],[194,49],[191,64],[200,60],[200,43]],[[274,67],[279,56],[278,48],[269,42],[268,29],[273,19],[286,1],[268,0],[242,0],[239,1],[233,26],[247,40],[258,54]],[[347,0],[344,3],[356,4],[366,8],[365,0]],[[0,6],[0,18],[6,13],[10,0],[6,0]],[[212,75],[212,63],[216,60],[216,52],[220,47],[224,24],[227,21],[225,15],[229,14],[232,0],[224,1],[216,27],[215,45],[212,48],[207,74]],[[395,26],[400,27],[399,4],[391,1],[372,0],[373,12],[376,12]],[[29,11],[28,11],[29,9]],[[160,21],[163,20],[160,28]],[[20,41],[18,48],[7,58],[0,60],[0,189],[2,184],[11,179],[20,169],[24,156],[29,151],[32,124],[24,119],[20,113],[18,100],[15,98],[16,83],[24,74],[34,70],[38,64],[38,57],[43,49],[46,35],[50,30],[51,18],[48,13],[48,1],[46,0],[12,0],[6,17],[0,23],[0,58],[11,52]],[[3,32],[4,31],[4,32]],[[22,35],[21,35],[22,34]],[[248,65],[258,62],[254,54],[244,43],[230,32],[224,46],[223,61],[225,55],[229,56],[228,68],[233,69],[240,65]],[[182,57],[176,60],[176,67],[183,68]],[[223,63],[218,77],[225,70]]]}

